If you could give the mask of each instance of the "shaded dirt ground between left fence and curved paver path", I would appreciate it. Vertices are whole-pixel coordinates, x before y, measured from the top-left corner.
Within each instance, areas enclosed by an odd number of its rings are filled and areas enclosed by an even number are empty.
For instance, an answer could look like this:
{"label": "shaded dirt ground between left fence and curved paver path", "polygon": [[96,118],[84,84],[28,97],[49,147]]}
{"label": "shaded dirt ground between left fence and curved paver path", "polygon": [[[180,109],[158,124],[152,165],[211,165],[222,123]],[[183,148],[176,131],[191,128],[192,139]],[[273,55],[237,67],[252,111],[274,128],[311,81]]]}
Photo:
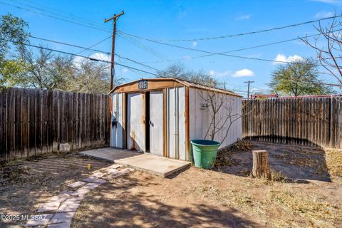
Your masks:
{"label": "shaded dirt ground between left fence and curved paver path", "polygon": [[[41,155],[1,164],[0,214],[35,214],[40,204],[66,190],[66,185],[108,165],[109,162],[76,153]],[[22,224],[23,221],[0,221],[0,227],[21,227]]]}

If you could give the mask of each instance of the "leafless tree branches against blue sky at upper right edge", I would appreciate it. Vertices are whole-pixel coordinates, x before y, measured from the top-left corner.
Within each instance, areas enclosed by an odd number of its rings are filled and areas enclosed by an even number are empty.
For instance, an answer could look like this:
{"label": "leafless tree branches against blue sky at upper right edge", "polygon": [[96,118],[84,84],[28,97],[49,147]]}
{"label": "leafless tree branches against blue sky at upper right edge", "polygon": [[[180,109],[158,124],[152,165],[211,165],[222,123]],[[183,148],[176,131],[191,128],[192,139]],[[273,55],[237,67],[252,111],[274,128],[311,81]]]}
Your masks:
{"label": "leafless tree branches against blue sky at upper right edge", "polygon": [[[313,41],[302,38],[306,43],[317,53],[317,58],[321,66],[328,71],[328,75],[333,76],[342,85],[342,22],[333,19],[327,26],[322,26],[319,23],[315,26],[319,35],[314,36]],[[321,46],[320,42],[325,43]]]}

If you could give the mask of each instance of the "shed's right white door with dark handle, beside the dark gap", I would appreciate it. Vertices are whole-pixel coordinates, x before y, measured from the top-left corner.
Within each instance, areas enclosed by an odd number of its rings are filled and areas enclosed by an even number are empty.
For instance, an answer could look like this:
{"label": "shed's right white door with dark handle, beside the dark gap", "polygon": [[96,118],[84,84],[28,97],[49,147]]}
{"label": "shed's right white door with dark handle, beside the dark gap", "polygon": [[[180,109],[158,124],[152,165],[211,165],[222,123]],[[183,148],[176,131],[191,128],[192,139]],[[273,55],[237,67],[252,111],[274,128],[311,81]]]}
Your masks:
{"label": "shed's right white door with dark handle, beside the dark gap", "polygon": [[150,152],[163,155],[162,91],[150,92]]}

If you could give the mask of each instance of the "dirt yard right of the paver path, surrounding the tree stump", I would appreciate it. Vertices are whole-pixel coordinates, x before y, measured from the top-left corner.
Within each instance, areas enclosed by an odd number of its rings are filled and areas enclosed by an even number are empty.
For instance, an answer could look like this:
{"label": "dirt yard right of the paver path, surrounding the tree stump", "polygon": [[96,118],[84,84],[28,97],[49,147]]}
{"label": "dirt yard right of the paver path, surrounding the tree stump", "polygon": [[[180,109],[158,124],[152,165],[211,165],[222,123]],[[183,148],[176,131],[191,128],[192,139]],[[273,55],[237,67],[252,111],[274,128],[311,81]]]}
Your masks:
{"label": "dirt yard right of the paver path, surrounding the tree stump", "polygon": [[[250,178],[252,152],[228,150],[216,170],[191,167],[170,179],[136,171],[111,180],[83,201],[72,227],[342,227],[341,151],[250,147],[269,151],[279,181]],[[339,165],[328,164],[335,164],[331,156]]]}

